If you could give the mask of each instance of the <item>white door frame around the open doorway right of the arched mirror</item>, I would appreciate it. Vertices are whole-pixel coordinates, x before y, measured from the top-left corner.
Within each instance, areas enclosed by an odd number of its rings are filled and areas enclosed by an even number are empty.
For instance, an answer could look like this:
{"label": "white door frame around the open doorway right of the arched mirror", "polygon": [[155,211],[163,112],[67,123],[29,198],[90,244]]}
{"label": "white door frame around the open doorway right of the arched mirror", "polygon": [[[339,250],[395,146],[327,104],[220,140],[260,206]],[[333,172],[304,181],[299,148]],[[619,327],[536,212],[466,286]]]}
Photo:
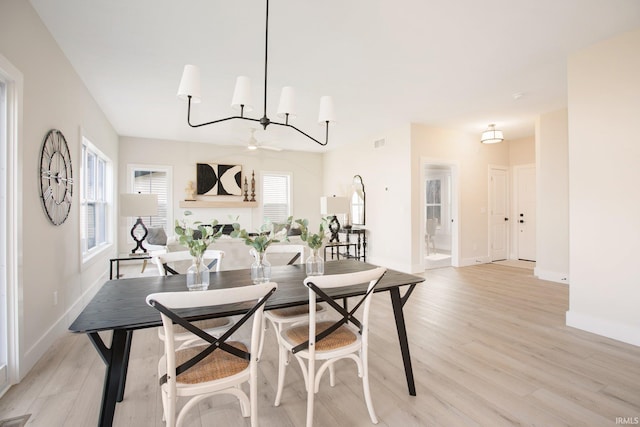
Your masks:
{"label": "white door frame around the open doorway right of the arched mirror", "polygon": [[460,200],[460,163],[443,160],[431,157],[420,158],[420,265],[424,270],[426,265],[424,261],[425,257],[425,245],[423,236],[426,234],[426,224],[424,218],[426,217],[426,182],[427,174],[426,168],[428,166],[445,166],[451,171],[451,266],[460,266],[460,220],[459,220],[459,200]]}

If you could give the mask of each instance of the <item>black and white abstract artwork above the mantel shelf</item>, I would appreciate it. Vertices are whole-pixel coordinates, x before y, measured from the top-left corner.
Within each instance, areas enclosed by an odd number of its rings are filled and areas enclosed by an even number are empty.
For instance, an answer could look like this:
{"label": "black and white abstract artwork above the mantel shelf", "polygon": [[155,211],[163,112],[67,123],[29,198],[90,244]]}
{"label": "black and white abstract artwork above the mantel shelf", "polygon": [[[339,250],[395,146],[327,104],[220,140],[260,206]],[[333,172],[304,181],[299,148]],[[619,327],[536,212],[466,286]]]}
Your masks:
{"label": "black and white abstract artwork above the mantel shelf", "polygon": [[197,190],[203,196],[241,196],[241,165],[197,164]]}

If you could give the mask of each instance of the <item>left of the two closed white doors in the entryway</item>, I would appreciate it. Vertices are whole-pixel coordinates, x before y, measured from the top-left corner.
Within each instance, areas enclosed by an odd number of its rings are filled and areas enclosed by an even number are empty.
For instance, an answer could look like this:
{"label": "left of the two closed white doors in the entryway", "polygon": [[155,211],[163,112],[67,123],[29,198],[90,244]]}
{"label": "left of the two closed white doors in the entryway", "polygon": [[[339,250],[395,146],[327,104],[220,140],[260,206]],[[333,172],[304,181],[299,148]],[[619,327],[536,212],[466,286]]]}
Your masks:
{"label": "left of the two closed white doors in the entryway", "polygon": [[491,261],[508,258],[509,174],[504,167],[491,167],[489,177],[489,245]]}

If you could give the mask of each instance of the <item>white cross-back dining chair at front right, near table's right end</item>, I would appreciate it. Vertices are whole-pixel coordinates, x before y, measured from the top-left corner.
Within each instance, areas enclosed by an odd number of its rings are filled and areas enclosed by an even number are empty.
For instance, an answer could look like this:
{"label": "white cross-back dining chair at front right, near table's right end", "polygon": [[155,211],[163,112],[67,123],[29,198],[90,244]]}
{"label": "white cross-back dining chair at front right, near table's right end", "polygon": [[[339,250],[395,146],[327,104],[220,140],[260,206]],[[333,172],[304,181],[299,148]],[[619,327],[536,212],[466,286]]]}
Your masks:
{"label": "white cross-back dining chair at front right, near table's right end", "polygon": [[[278,388],[275,406],[280,405],[284,388],[287,354],[291,353],[298,361],[307,389],[307,427],[313,425],[314,397],[320,388],[320,379],[329,369],[330,385],[335,385],[334,363],[341,359],[351,359],[356,363],[358,376],[362,378],[364,398],[369,417],[374,424],[378,423],[371,391],[369,387],[368,345],[369,345],[369,310],[373,290],[386,269],[377,267],[371,270],[332,274],[326,276],[310,276],[304,280],[309,288],[309,319],[307,322],[295,323],[284,327],[278,340]],[[347,309],[331,296],[332,288],[357,286],[367,283],[366,294],[351,308]],[[327,302],[328,310],[335,310],[339,319],[317,321],[316,298]],[[356,312],[362,308],[360,319]],[[321,362],[316,371],[316,361]]]}

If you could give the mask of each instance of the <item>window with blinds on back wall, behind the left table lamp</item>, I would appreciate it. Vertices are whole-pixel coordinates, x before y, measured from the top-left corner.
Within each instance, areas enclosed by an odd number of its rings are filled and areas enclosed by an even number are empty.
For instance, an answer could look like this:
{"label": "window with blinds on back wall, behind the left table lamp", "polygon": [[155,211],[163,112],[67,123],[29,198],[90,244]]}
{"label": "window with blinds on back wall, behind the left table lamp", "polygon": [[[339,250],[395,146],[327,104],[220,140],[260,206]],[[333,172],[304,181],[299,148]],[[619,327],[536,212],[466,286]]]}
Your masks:
{"label": "window with blinds on back wall, behind the left table lamp", "polygon": [[[145,217],[148,227],[163,227],[165,231],[173,230],[173,218],[169,209],[171,194],[169,184],[172,182],[170,166],[129,165],[129,190],[131,193],[156,194],[158,196],[158,214]],[[128,229],[133,226],[133,218]]]}

